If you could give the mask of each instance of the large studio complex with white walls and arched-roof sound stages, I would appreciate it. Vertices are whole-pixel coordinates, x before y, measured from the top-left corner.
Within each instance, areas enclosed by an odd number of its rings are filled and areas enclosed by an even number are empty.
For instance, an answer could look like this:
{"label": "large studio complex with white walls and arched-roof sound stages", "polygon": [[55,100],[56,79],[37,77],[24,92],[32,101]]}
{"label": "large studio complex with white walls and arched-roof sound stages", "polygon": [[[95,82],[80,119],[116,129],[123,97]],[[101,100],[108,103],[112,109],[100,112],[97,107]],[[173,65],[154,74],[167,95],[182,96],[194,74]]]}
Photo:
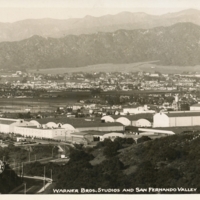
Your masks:
{"label": "large studio complex with white walls and arched-roof sound stages", "polygon": [[105,115],[101,118],[43,118],[37,120],[0,118],[0,132],[24,137],[89,144],[105,138],[130,134],[175,134],[173,127],[200,126],[200,104],[191,111]]}

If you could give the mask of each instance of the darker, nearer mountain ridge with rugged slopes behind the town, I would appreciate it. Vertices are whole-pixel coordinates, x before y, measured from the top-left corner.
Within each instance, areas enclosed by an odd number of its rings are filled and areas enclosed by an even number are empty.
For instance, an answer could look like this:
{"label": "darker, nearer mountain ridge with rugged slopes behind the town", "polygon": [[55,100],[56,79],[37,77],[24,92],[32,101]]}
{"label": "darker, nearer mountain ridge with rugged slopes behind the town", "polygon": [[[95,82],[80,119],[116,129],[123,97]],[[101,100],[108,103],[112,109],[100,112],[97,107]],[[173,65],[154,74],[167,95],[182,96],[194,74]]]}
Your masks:
{"label": "darker, nearer mountain ridge with rugged slopes behind the town", "polygon": [[33,36],[0,43],[0,68],[41,69],[159,60],[163,65],[200,64],[200,26],[178,23],[63,38]]}

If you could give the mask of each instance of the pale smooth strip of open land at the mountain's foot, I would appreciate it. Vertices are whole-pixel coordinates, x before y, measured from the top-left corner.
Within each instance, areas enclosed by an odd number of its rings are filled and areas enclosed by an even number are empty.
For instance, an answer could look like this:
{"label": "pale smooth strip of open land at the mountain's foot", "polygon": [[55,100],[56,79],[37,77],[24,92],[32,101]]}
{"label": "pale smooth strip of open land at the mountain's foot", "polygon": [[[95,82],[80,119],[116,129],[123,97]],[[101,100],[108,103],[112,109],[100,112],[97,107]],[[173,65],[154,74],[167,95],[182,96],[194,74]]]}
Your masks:
{"label": "pale smooth strip of open land at the mountain's foot", "polygon": [[155,72],[159,71],[161,73],[182,73],[184,71],[189,72],[200,72],[200,66],[161,66],[157,65],[156,61],[152,62],[138,62],[138,63],[128,63],[128,64],[98,64],[98,65],[89,65],[85,67],[77,68],[52,68],[52,69],[40,69],[37,70],[28,70],[31,73],[41,73],[41,74],[64,74],[64,73],[76,73],[76,72]]}

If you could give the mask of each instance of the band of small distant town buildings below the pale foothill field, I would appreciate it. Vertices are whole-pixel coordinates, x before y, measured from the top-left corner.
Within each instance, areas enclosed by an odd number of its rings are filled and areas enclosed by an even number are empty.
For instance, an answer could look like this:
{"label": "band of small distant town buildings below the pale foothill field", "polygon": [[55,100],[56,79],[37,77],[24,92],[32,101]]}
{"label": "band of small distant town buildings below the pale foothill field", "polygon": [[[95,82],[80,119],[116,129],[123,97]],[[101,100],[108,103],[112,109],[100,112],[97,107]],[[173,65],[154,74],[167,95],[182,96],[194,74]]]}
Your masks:
{"label": "band of small distant town buildings below the pale foothill field", "polygon": [[91,90],[100,88],[103,91],[129,90],[198,90],[199,74],[161,74],[159,72],[104,73],[88,74],[38,74],[17,71],[1,72],[0,83],[11,84],[12,88],[45,89],[45,90]]}

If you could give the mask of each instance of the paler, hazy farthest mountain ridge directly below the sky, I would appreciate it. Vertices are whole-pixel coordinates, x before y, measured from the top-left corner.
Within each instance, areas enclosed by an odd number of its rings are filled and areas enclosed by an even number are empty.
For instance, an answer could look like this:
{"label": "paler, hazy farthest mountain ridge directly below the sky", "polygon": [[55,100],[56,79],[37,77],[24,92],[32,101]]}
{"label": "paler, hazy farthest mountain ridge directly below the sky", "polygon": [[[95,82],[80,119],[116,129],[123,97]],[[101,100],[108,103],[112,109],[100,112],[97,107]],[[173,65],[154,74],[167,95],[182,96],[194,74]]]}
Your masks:
{"label": "paler, hazy farthest mountain ridge directly below the sky", "polygon": [[0,42],[19,41],[33,35],[60,38],[66,35],[114,32],[119,29],[150,29],[158,26],[171,26],[180,22],[200,25],[200,11],[189,9],[160,16],[142,12],[122,12],[102,17],[86,16],[66,20],[27,19],[14,23],[0,23]]}

